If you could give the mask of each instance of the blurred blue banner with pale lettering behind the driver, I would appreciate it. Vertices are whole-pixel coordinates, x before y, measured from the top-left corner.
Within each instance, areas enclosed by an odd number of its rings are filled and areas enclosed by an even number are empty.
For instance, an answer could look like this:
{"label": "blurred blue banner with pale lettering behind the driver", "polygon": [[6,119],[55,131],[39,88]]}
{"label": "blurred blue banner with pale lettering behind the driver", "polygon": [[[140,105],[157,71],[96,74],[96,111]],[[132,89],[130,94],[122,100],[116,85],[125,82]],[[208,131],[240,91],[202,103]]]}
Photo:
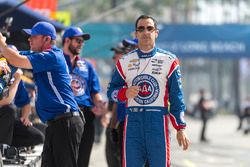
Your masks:
{"label": "blurred blue banner with pale lettering behind the driver", "polygon": [[249,25],[160,25],[157,45],[178,57],[250,58]]}

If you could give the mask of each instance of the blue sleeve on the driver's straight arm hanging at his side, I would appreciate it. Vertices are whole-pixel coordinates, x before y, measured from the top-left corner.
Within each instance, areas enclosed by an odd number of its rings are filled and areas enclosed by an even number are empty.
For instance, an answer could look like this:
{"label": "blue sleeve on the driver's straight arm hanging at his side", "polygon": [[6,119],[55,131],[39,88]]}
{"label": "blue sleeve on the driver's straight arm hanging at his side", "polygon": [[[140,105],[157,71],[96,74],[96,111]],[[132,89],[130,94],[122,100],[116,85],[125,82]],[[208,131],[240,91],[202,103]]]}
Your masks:
{"label": "blue sleeve on the driver's straight arm hanging at his side", "polygon": [[168,78],[168,91],[170,102],[170,120],[175,129],[186,127],[184,112],[186,110],[182,92],[180,66],[177,66]]}

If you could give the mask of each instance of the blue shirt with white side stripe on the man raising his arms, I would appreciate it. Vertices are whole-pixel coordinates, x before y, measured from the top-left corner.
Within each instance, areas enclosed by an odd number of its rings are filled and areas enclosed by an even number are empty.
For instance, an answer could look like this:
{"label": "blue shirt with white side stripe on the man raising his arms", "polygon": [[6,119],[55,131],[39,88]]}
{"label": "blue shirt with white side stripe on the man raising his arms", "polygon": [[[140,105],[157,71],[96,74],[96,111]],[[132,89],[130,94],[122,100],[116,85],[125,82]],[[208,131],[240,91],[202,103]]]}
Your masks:
{"label": "blue shirt with white side stripe on the man raising his arms", "polygon": [[64,112],[78,111],[70,86],[70,75],[61,49],[53,46],[43,52],[20,52],[32,65],[37,86],[36,111],[43,122]]}

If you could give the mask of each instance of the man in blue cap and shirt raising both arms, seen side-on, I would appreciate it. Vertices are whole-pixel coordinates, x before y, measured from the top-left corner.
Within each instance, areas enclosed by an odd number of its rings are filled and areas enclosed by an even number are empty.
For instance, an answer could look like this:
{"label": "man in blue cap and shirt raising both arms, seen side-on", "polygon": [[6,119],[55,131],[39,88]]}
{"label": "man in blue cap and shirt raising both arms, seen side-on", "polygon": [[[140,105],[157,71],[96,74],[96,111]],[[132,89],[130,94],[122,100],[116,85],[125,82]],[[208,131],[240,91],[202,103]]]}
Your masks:
{"label": "man in blue cap and shirt raising both arms, seen side-on", "polygon": [[10,64],[33,71],[36,111],[48,124],[41,166],[77,167],[84,118],[74,99],[63,52],[55,46],[56,30],[48,22],[38,22],[23,31],[30,36],[30,51],[8,48],[1,33],[0,51]]}

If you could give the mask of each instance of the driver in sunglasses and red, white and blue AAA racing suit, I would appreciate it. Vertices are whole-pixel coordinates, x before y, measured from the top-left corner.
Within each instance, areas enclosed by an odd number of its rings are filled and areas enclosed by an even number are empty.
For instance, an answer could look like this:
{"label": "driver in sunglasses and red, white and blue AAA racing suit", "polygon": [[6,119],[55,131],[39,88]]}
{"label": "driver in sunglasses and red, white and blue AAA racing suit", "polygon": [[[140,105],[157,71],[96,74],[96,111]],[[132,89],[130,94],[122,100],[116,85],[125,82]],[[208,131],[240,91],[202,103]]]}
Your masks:
{"label": "driver in sunglasses and red, white and blue AAA racing suit", "polygon": [[159,30],[153,17],[140,16],[135,28],[138,49],[117,62],[107,92],[127,106],[122,166],[139,167],[148,160],[150,167],[170,167],[169,118],[183,150],[190,144],[179,61],[155,46]]}

